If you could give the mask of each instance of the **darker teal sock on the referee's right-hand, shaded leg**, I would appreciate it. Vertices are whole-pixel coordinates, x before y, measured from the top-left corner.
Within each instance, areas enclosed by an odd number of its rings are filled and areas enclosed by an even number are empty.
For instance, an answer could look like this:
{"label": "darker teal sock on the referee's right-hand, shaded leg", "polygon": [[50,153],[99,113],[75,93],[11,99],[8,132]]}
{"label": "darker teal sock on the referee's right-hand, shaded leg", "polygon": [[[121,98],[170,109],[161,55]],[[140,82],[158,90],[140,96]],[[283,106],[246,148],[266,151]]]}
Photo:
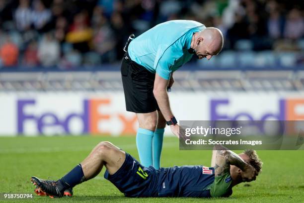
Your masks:
{"label": "darker teal sock on the referee's right-hand, shaded leg", "polygon": [[162,149],[164,128],[158,128],[154,131],[153,136],[153,166],[155,169],[160,167],[160,154]]}

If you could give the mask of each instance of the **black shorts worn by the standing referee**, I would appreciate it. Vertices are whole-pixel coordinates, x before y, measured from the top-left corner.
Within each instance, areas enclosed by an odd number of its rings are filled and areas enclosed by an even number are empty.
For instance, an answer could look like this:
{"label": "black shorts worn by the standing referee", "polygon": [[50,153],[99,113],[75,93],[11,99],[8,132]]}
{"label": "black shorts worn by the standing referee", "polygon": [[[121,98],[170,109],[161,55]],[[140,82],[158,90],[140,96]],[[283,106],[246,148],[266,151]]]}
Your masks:
{"label": "black shorts worn by the standing referee", "polygon": [[121,76],[127,111],[149,113],[159,110],[153,95],[155,74],[132,61],[126,53],[121,63]]}

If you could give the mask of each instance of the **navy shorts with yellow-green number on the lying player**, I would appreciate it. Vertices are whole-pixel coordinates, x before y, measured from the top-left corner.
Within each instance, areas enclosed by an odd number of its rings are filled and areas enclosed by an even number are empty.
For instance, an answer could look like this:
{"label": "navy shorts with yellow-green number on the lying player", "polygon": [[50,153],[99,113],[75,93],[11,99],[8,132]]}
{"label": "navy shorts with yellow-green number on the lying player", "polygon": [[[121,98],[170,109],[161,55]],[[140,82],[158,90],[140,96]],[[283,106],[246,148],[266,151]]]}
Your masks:
{"label": "navy shorts with yellow-green number on the lying player", "polygon": [[113,175],[106,170],[104,178],[109,180],[126,197],[157,197],[156,169],[144,167],[126,153],[126,160]]}

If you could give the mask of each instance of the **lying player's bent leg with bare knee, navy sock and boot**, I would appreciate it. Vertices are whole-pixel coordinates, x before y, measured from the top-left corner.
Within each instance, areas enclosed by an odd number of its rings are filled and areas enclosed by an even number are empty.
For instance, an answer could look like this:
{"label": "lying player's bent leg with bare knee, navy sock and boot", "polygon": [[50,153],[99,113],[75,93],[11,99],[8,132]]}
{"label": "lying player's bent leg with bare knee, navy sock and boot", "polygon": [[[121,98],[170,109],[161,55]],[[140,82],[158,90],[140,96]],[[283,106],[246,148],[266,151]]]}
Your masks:
{"label": "lying player's bent leg with bare knee, navy sock and boot", "polygon": [[114,174],[122,166],[125,158],[125,152],[110,142],[100,142],[81,164],[78,164],[58,181],[43,180],[37,177],[32,177],[31,181],[41,193],[50,197],[62,197],[66,189],[73,188],[98,175],[103,166],[107,168],[110,175]]}

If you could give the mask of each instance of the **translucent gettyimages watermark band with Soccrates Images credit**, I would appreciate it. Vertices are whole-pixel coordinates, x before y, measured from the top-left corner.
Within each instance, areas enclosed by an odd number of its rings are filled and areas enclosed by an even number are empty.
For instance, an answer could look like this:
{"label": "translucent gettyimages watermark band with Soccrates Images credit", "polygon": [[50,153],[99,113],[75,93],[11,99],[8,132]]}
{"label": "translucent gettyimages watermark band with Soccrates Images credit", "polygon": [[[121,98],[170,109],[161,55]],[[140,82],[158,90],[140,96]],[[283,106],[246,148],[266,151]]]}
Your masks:
{"label": "translucent gettyimages watermark band with Soccrates Images credit", "polygon": [[304,150],[304,121],[181,120],[180,150]]}

